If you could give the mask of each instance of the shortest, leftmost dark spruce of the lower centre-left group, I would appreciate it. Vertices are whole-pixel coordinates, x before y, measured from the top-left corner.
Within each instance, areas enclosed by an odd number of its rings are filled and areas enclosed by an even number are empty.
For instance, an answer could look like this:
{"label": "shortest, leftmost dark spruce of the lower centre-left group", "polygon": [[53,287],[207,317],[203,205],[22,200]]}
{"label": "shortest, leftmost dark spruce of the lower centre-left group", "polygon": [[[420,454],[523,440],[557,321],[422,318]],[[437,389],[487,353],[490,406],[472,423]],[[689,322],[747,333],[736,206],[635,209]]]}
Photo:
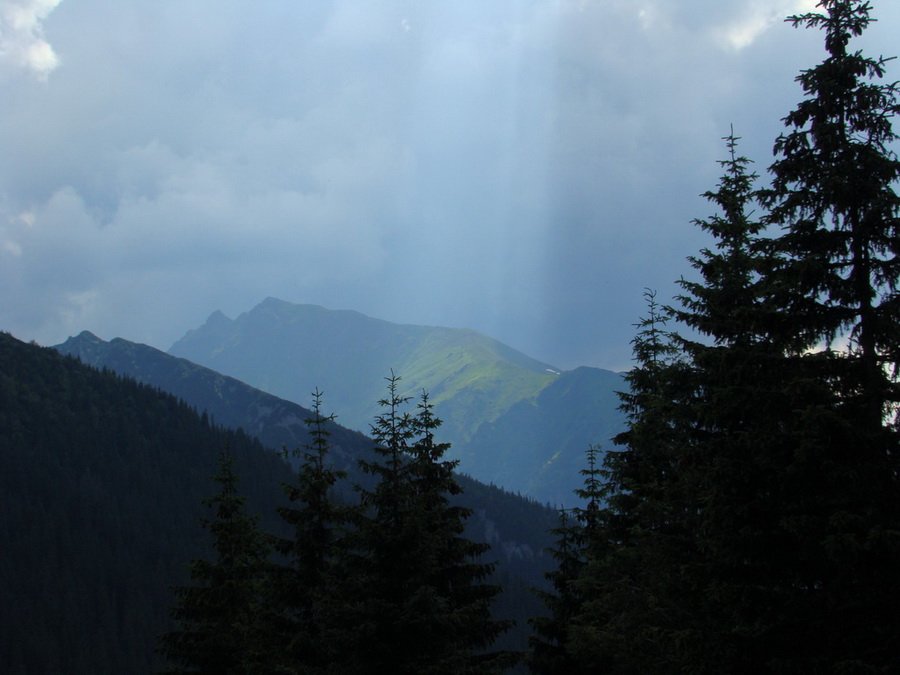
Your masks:
{"label": "shortest, leftmost dark spruce of the lower centre-left group", "polygon": [[204,527],[213,536],[216,560],[193,561],[193,585],[175,589],[172,615],[179,629],[162,636],[160,645],[171,664],[167,673],[269,672],[260,621],[269,540],[244,509],[233,464],[228,451],[223,451],[214,479],[220,491],[204,500],[215,510],[215,518],[204,520]]}

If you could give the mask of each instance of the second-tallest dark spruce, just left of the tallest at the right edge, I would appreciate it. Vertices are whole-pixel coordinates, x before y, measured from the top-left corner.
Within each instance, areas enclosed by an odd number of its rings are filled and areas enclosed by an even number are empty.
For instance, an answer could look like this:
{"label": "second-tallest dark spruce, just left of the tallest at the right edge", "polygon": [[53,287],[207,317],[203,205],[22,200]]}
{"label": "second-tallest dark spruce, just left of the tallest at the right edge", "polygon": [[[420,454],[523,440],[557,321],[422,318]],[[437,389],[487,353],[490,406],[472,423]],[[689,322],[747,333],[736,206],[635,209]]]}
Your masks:
{"label": "second-tallest dark spruce, just left of the tallest at the right edge", "polygon": [[714,246],[690,258],[700,280],[680,282],[675,311],[697,336],[678,339],[690,364],[694,426],[679,467],[681,498],[694,505],[685,520],[694,556],[680,578],[695,620],[680,635],[677,658],[695,672],[756,673],[798,644],[789,628],[796,616],[778,618],[796,578],[790,561],[806,565],[809,555],[784,526],[801,492],[792,476],[806,475],[791,458],[813,441],[809,406],[830,394],[803,376],[789,345],[766,334],[780,315],[769,300],[765,223],[752,217],[757,177],[737,155],[734,134],[725,140],[725,173],[705,194],[718,213],[695,221]]}

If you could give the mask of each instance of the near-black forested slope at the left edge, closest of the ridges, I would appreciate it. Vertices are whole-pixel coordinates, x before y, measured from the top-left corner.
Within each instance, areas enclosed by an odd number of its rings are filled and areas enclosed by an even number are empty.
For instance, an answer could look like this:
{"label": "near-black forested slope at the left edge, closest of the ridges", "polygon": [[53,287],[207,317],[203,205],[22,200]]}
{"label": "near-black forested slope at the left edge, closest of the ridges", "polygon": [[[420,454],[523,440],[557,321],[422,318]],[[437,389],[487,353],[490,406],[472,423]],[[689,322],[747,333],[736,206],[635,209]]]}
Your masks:
{"label": "near-black forested slope at the left edge, closest of the ridges", "polygon": [[291,471],[173,396],[0,333],[0,672],[151,673],[171,586],[211,555],[201,499],[224,447],[248,510]]}

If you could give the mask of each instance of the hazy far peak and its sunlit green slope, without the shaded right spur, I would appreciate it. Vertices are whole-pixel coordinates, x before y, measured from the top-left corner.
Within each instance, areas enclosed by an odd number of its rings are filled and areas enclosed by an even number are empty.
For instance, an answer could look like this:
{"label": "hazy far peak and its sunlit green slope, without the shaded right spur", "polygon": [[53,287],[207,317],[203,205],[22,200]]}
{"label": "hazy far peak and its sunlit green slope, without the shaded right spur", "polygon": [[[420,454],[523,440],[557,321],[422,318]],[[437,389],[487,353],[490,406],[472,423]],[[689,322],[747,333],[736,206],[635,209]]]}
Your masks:
{"label": "hazy far peak and its sunlit green slope, without the shaded right spur", "polygon": [[169,350],[296,402],[318,387],[344,426],[368,431],[384,378],[429,392],[454,444],[551,382],[552,367],[474,331],[410,326],[268,298],[231,321],[221,312]]}

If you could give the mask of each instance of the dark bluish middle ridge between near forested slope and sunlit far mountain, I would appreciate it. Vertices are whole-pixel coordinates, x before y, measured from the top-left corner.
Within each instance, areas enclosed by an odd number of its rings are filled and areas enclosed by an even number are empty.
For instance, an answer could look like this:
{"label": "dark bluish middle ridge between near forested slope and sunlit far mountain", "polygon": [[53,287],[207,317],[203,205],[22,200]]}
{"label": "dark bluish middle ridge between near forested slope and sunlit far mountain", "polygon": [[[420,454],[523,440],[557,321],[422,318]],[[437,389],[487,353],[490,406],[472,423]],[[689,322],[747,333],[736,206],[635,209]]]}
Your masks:
{"label": "dark bluish middle ridge between near forested slope and sunlit far mountain", "polygon": [[[217,425],[252,433],[266,446],[294,449],[309,442],[303,420],[310,412],[305,408],[148,345],[121,338],[106,342],[84,331],[55,349],[94,368],[174,394]],[[357,459],[371,458],[372,440],[338,424],[329,425],[329,431],[333,464],[348,472],[350,482],[370,480],[359,470]],[[467,536],[491,544],[491,559],[500,563],[497,579],[504,593],[496,611],[519,621],[502,645],[522,649],[529,632],[525,619],[542,611],[530,589],[543,585],[543,574],[553,565],[545,549],[552,544],[549,531],[557,525],[556,512],[467,476],[459,476],[458,482],[463,494],[457,500],[473,510]],[[345,489],[342,495],[356,499],[352,490]]]}

